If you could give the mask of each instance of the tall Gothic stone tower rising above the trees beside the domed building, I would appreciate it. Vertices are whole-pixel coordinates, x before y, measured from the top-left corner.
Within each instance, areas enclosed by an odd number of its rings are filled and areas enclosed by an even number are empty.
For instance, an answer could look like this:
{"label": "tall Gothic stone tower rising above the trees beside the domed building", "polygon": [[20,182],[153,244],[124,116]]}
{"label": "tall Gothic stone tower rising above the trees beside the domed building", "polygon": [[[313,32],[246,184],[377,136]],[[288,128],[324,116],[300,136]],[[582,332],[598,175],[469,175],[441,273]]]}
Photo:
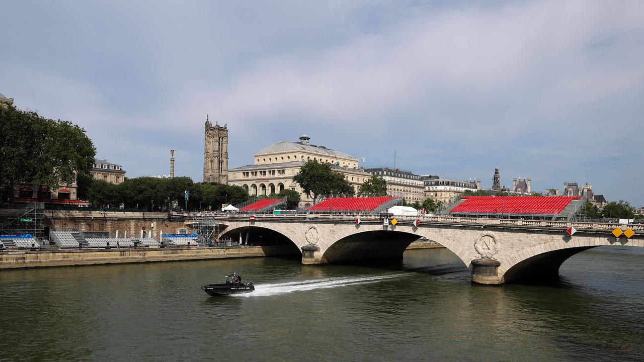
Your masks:
{"label": "tall Gothic stone tower rising above the trees beside the domed building", "polygon": [[204,182],[228,182],[228,125],[213,124],[206,116],[204,147]]}

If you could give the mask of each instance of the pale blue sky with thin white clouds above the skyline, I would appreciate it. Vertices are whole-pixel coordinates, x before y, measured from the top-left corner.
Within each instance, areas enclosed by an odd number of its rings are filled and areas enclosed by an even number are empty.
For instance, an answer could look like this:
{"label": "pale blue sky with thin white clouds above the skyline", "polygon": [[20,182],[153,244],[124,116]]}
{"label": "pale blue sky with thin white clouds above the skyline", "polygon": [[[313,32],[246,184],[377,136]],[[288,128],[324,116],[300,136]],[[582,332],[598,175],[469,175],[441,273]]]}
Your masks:
{"label": "pale blue sky with thin white clouds above the skyline", "polygon": [[[0,93],[128,177],[202,181],[280,140],[365,166],[644,206],[644,1],[11,1]],[[395,155],[395,156],[394,156]],[[361,162],[361,165],[363,163]]]}

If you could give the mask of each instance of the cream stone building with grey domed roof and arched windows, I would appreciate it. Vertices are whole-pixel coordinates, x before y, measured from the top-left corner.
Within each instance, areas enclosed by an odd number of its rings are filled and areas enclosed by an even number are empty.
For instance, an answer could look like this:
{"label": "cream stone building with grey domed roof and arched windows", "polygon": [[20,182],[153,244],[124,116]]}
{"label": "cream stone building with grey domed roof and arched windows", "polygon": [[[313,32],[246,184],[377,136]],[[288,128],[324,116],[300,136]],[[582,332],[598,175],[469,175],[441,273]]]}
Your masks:
{"label": "cream stone building with grey domed roof and arched windows", "polygon": [[305,195],[293,176],[309,160],[332,164],[334,171],[345,175],[357,193],[370,174],[358,167],[358,159],[347,153],[316,146],[310,137],[301,135],[298,142],[279,141],[254,154],[254,164],[228,170],[228,184],[243,187],[251,196],[270,195],[283,189],[302,194],[302,204],[313,200]]}

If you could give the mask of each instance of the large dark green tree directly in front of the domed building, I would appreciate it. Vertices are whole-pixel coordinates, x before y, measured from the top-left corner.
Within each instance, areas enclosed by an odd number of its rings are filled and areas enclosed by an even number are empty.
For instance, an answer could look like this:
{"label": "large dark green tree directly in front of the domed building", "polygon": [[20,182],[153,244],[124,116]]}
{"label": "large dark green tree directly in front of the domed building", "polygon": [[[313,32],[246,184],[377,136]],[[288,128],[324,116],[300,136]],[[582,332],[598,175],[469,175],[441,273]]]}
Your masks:
{"label": "large dark green tree directly in front of the domed building", "polygon": [[308,161],[299,169],[293,181],[302,187],[308,197],[316,204],[321,195],[353,195],[354,187],[345,180],[345,176],[331,169],[331,164],[321,164],[316,160]]}

